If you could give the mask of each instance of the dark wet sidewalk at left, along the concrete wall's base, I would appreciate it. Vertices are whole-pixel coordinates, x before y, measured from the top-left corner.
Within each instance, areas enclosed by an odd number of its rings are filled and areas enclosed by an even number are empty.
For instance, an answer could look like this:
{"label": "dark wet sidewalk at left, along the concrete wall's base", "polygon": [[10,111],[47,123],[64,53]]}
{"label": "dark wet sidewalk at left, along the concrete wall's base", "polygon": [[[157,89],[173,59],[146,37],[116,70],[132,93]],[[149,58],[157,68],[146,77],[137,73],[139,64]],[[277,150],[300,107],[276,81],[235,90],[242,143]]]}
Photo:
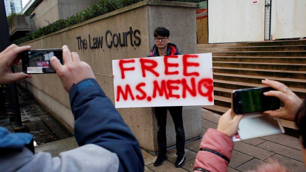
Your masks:
{"label": "dark wet sidewalk at left, along the concrete wall's base", "polygon": [[[34,141],[37,145],[73,136],[27,92],[20,89],[19,86],[17,90],[22,124],[26,127],[26,132],[34,135]],[[13,122],[9,121],[7,111],[0,111],[0,126],[14,133]]]}

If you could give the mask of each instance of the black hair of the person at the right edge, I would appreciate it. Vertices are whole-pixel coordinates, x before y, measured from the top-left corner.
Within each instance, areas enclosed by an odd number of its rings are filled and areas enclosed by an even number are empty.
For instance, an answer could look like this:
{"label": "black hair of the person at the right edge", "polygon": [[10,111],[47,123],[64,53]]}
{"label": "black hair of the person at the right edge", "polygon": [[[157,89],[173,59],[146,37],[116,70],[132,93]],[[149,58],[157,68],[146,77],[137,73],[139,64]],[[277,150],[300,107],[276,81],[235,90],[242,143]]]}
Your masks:
{"label": "black hair of the person at the right edge", "polygon": [[298,126],[302,137],[303,147],[306,148],[306,100],[302,103],[295,116],[295,123]]}

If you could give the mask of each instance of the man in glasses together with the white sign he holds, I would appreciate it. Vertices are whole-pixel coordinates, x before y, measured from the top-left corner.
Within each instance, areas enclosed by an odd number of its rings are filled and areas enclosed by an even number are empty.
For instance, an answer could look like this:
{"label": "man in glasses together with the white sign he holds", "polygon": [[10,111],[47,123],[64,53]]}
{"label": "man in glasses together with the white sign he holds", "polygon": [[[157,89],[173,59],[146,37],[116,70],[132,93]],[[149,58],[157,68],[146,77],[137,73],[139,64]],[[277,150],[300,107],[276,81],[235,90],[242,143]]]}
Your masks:
{"label": "man in glasses together with the white sign he holds", "polygon": [[169,42],[170,32],[156,28],[155,44],[146,58],[113,60],[116,108],[154,107],[157,120],[159,166],[166,156],[166,119],[169,110],[176,131],[176,167],[185,163],[182,106],[214,105],[212,55],[181,55]]}

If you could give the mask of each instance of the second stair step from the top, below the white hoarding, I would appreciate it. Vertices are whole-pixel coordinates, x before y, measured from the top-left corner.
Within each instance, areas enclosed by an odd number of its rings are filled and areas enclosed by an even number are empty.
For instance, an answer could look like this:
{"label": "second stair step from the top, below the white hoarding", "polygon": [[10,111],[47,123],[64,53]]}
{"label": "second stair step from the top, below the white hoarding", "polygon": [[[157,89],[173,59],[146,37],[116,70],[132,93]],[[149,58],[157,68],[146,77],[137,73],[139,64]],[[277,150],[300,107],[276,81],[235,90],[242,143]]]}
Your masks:
{"label": "second stair step from the top, below the white hoarding", "polygon": [[303,51],[306,45],[287,45],[287,46],[256,46],[256,47],[214,47],[197,48],[198,52],[226,52],[226,51]]}

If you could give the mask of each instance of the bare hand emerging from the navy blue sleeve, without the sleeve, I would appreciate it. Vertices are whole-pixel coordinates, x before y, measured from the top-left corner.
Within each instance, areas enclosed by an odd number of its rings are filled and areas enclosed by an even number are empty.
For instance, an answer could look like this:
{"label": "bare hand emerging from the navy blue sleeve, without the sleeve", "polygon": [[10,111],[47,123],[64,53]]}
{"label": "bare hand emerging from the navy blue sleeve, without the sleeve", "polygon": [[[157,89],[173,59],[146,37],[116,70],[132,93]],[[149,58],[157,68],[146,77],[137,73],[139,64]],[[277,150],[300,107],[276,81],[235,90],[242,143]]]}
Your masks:
{"label": "bare hand emerging from the navy blue sleeve, without the sleeve", "polygon": [[77,84],[88,78],[96,79],[91,67],[84,61],[81,61],[76,52],[71,53],[67,45],[64,45],[62,50],[64,65],[55,56],[51,58],[50,63],[67,92],[69,92],[73,83]]}

